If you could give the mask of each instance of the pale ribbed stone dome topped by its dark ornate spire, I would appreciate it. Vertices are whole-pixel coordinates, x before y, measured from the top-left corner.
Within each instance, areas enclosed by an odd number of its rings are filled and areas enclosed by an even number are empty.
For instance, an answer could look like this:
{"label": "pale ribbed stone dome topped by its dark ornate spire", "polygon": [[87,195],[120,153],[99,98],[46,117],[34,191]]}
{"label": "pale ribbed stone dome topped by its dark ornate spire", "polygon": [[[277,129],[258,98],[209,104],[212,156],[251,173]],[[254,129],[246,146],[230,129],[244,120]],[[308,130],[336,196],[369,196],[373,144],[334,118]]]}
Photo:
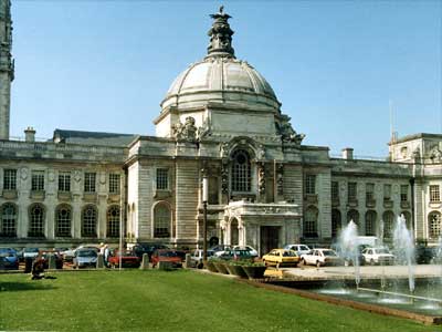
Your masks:
{"label": "pale ribbed stone dome topped by its dark ornate spire", "polygon": [[169,106],[198,107],[208,102],[246,102],[248,107],[271,106],[280,108],[273,89],[248,62],[236,60],[231,45],[233,31],[228,19],[220,12],[211,15],[215,21],[209,31],[208,55],[191,64],[170,85],[162,110]]}

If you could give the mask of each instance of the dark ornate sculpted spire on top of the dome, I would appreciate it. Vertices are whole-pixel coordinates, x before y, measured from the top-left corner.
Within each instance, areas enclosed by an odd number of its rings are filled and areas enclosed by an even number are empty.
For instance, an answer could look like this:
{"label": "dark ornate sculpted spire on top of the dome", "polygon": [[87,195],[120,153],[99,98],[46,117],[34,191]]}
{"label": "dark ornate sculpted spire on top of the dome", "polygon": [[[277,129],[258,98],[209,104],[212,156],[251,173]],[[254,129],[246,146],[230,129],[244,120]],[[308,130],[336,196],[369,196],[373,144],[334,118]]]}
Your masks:
{"label": "dark ornate sculpted spire on top of the dome", "polygon": [[220,11],[210,15],[214,21],[209,30],[210,44],[208,46],[208,56],[229,56],[234,58],[232,48],[233,31],[230,29],[228,20],[231,18],[224,13],[224,6],[220,7]]}

